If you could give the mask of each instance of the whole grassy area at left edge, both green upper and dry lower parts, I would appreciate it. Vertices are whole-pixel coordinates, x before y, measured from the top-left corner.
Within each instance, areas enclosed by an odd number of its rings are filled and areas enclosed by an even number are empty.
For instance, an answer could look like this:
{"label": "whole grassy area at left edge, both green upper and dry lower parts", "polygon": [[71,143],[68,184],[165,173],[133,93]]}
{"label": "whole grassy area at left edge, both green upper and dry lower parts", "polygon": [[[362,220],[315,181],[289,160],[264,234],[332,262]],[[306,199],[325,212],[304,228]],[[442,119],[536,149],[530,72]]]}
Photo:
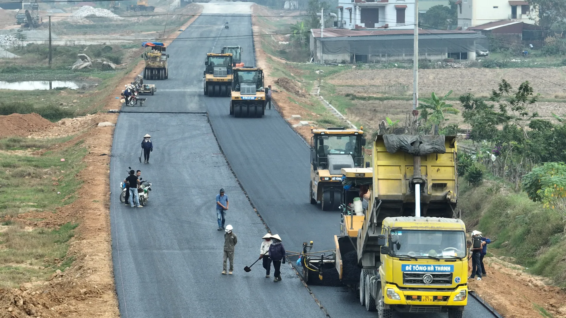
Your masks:
{"label": "whole grassy area at left edge, both green upper and dry lower parts", "polygon": [[45,229],[13,221],[25,212],[55,213],[55,208],[76,199],[74,194],[81,182],[75,174],[84,167],[81,161],[87,153],[81,142],[41,156],[32,154],[34,150],[57,148],[71,138],[0,140],[0,287],[44,279],[72,262],[66,257],[67,241],[77,224]]}

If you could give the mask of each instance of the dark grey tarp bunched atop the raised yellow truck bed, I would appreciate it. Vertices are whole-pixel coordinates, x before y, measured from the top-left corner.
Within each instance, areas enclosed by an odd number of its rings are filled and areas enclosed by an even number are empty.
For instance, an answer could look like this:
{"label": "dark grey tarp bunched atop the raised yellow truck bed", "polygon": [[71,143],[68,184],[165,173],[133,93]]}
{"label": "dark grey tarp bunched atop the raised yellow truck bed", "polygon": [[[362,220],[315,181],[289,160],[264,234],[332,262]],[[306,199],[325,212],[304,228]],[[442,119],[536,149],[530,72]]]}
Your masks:
{"label": "dark grey tarp bunched atop the raised yellow truck bed", "polygon": [[[415,141],[418,141],[413,145]],[[429,153],[446,153],[444,135],[383,135],[383,142],[387,152],[403,151],[413,156],[423,156]]]}

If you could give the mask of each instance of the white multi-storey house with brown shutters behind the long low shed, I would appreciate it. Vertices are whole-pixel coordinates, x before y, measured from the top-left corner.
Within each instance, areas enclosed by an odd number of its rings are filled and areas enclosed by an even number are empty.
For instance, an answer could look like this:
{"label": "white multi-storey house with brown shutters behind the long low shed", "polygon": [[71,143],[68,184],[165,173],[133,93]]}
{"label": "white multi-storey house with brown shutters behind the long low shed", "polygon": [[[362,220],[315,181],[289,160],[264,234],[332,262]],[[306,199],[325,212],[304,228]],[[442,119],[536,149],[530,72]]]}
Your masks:
{"label": "white multi-storey house with brown shutters behind the long low shed", "polygon": [[335,26],[346,29],[412,29],[414,6],[414,0],[338,0]]}

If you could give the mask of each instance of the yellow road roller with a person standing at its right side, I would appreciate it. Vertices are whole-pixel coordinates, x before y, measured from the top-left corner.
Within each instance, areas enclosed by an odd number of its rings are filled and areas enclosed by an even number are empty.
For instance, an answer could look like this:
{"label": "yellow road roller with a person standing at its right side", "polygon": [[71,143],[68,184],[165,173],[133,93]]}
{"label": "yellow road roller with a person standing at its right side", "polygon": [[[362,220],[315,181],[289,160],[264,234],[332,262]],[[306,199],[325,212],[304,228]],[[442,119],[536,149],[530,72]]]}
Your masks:
{"label": "yellow road roller with a person standing at its right side", "polygon": [[265,114],[263,70],[258,67],[235,67],[230,99],[230,115],[262,117]]}

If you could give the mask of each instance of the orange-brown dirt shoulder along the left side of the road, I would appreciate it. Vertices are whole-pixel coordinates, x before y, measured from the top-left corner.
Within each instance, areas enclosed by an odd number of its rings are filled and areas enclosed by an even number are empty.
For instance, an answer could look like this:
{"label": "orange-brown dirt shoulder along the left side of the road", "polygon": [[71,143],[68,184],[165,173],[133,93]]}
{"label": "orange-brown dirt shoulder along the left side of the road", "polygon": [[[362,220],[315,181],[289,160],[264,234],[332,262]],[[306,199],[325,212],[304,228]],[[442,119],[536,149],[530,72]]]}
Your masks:
{"label": "orange-brown dirt shoulder along the left side of the road", "polygon": [[[200,12],[199,12],[200,14]],[[198,16],[198,15],[197,15]],[[196,17],[189,20],[183,29]],[[180,32],[169,35],[169,44]],[[115,96],[143,68],[143,61],[124,76],[106,98],[104,109],[116,109]],[[70,267],[57,270],[47,281],[33,280],[20,289],[0,289],[0,317],[119,317],[115,293],[110,235],[109,167],[113,126],[118,114],[97,113],[81,118],[62,119],[43,130],[32,129],[30,137],[76,135],[46,151],[63,149],[80,143],[87,148],[85,168],[75,177],[83,182],[73,203],[57,208],[56,213],[29,209],[9,221],[29,227],[57,228],[67,222],[78,222],[75,237],[69,242],[67,259]],[[24,123],[25,124],[25,123]],[[34,153],[38,155],[41,153]],[[55,183],[55,182],[54,182]],[[64,199],[63,199],[64,200]],[[55,263],[61,260],[50,260]]]}

